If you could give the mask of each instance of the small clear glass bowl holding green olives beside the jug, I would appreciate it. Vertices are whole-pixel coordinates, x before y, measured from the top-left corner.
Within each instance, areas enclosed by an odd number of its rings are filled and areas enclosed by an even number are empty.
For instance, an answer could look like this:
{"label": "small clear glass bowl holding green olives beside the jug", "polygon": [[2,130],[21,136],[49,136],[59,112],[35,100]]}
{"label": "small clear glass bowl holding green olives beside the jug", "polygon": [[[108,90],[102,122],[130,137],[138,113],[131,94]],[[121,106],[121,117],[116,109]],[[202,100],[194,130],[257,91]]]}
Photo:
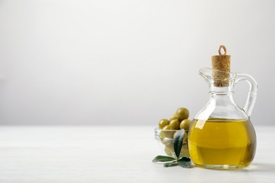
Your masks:
{"label": "small clear glass bowl holding green olives beside the jug", "polygon": [[[176,158],[176,153],[173,150],[173,142],[176,133],[179,130],[161,130],[158,127],[154,129],[154,138],[159,142],[161,152],[165,155]],[[181,156],[189,157],[188,149],[188,131],[185,131],[183,136],[183,146],[181,147]]]}

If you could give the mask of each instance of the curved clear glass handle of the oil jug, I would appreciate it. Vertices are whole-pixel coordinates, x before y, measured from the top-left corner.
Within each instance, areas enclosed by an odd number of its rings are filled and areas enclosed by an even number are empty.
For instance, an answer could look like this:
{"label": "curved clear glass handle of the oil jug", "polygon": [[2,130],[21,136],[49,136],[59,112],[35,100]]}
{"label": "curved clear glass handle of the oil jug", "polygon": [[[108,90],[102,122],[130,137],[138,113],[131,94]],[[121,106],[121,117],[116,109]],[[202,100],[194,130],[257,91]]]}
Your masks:
{"label": "curved clear glass handle of the oil jug", "polygon": [[236,79],[235,79],[235,84],[240,81],[246,81],[249,84],[249,92],[248,96],[245,102],[245,107],[243,108],[243,111],[250,117],[252,110],[255,106],[255,102],[257,99],[257,91],[258,91],[258,84],[254,77],[251,75],[243,74],[243,73],[237,73],[236,74]]}

